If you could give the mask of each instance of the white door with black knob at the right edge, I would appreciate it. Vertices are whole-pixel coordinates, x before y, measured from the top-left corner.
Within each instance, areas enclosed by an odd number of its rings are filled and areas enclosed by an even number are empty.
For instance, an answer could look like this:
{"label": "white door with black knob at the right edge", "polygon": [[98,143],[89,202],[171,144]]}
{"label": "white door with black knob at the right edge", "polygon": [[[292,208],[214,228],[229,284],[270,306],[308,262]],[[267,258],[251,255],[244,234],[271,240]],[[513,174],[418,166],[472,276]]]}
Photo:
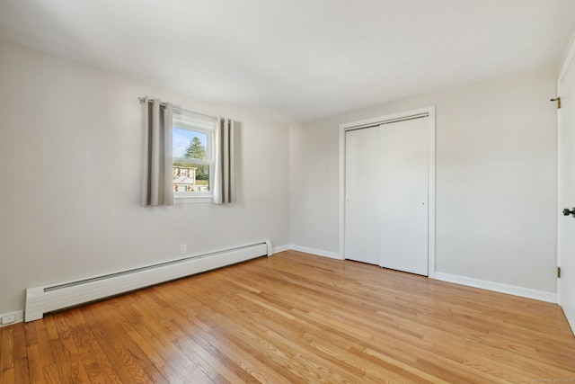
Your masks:
{"label": "white door with black knob at the right edge", "polygon": [[[575,53],[575,42],[571,47]],[[561,109],[557,111],[558,189],[559,210],[575,210],[575,55],[571,54],[563,66],[558,81]],[[557,222],[559,304],[575,330],[575,217],[561,212]]]}

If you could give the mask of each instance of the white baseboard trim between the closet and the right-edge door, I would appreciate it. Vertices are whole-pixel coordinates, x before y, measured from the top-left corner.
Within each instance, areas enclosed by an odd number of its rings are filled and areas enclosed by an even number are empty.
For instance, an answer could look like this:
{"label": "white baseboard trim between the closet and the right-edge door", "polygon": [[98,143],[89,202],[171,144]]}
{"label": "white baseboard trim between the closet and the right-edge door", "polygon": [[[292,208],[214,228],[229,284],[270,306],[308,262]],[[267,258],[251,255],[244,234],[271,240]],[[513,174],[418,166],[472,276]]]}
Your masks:
{"label": "white baseboard trim between the closet and the right-edge door", "polygon": [[444,272],[435,272],[434,279],[454,282],[456,284],[467,285],[473,288],[481,288],[482,290],[493,290],[495,292],[507,293],[509,295],[520,296],[527,299],[547,301],[553,304],[557,303],[557,293],[546,292],[544,290],[532,290],[530,288],[502,284],[500,282],[473,279],[471,277],[459,276],[456,274]]}

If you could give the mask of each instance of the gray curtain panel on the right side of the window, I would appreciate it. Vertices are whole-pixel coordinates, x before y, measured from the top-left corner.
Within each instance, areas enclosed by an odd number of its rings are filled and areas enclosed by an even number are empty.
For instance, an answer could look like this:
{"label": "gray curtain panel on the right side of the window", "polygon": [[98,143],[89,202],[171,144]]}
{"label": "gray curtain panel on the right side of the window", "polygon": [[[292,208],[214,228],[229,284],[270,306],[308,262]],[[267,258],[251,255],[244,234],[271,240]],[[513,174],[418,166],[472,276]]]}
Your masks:
{"label": "gray curtain panel on the right side of the window", "polygon": [[216,128],[214,203],[235,202],[234,121],[219,119]]}

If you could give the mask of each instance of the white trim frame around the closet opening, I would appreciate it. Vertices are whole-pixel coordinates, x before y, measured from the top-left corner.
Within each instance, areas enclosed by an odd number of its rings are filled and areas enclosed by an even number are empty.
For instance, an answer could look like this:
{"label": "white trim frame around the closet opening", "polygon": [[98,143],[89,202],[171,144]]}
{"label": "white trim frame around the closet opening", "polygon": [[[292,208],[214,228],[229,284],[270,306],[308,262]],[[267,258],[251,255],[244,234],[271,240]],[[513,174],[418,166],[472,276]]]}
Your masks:
{"label": "white trim frame around the closet opening", "polygon": [[434,278],[436,271],[435,262],[435,216],[436,216],[436,193],[435,193],[435,157],[436,157],[436,116],[435,105],[416,110],[398,112],[378,116],[361,121],[350,121],[340,124],[340,258],[345,259],[345,132],[352,129],[367,128],[390,121],[402,121],[427,114],[428,116],[428,143],[429,143],[429,181],[428,181],[428,277]]}

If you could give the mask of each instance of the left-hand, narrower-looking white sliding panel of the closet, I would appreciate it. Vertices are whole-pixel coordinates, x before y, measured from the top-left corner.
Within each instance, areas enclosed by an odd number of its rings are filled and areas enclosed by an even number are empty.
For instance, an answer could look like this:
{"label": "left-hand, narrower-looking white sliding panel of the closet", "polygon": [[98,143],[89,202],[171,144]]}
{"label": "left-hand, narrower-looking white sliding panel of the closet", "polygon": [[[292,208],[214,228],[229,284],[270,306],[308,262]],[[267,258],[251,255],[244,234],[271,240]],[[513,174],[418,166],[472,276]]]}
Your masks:
{"label": "left-hand, narrower-looking white sliding panel of the closet", "polygon": [[345,133],[345,257],[379,264],[379,128]]}

